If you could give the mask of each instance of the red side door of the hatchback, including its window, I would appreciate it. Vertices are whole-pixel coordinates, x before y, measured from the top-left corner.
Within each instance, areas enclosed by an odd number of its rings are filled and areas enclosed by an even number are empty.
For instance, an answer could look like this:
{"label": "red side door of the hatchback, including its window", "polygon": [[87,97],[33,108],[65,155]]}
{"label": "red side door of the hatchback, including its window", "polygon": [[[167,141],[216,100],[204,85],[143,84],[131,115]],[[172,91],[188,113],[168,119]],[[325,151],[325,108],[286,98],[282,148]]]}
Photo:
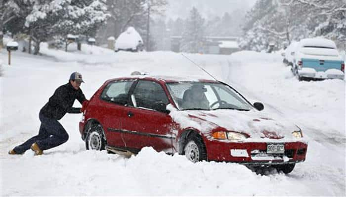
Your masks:
{"label": "red side door of the hatchback, including its window", "polygon": [[145,146],[156,151],[172,153],[172,118],[169,114],[154,110],[155,103],[169,103],[162,86],[150,80],[139,80],[122,124],[128,149],[136,152]]}

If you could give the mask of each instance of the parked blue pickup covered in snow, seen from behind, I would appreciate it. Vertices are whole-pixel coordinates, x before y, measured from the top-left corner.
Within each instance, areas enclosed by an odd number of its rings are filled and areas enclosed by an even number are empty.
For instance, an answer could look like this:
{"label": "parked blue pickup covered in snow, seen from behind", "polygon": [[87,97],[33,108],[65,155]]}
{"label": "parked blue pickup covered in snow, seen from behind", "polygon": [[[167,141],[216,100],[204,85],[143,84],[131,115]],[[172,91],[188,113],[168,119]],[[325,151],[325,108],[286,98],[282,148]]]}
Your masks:
{"label": "parked blue pickup covered in snow, seen from behind", "polygon": [[307,38],[297,45],[293,73],[301,79],[344,79],[345,62],[329,39]]}

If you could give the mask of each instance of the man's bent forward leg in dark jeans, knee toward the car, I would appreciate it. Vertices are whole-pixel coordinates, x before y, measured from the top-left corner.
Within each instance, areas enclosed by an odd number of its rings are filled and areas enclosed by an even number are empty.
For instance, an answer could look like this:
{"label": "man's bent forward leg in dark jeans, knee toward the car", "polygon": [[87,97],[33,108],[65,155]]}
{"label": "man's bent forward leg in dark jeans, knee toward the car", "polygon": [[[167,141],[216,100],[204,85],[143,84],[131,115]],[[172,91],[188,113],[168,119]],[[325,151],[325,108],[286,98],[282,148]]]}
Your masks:
{"label": "man's bent forward leg in dark jeans, knee toward the car", "polygon": [[44,117],[43,115],[40,115],[40,120],[44,129],[48,133],[48,137],[36,141],[41,150],[47,150],[59,146],[68,140],[69,135],[59,121]]}

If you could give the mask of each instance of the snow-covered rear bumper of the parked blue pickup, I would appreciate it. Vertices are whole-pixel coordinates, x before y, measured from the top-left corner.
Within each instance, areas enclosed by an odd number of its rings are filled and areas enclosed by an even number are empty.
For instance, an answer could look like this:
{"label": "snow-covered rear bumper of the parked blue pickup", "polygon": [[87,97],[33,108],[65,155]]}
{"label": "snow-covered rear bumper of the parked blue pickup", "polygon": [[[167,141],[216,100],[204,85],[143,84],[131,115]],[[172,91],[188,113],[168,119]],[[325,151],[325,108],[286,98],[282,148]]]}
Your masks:
{"label": "snow-covered rear bumper of the parked blue pickup", "polygon": [[341,70],[330,69],[326,71],[316,71],[313,68],[302,68],[298,70],[300,77],[313,79],[344,79],[344,73]]}

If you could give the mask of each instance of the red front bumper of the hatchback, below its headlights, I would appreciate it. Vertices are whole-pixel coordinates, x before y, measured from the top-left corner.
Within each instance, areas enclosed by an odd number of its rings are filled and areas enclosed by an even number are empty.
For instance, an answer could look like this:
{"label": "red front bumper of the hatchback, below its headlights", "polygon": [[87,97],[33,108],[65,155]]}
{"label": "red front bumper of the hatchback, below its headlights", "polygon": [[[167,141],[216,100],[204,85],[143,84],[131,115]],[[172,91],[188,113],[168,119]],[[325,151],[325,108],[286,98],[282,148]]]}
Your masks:
{"label": "red front bumper of the hatchback, below its headlights", "polygon": [[281,142],[285,153],[267,154],[266,142],[221,142],[207,141],[209,161],[236,162],[246,165],[289,164],[305,161],[307,144],[303,142]]}

